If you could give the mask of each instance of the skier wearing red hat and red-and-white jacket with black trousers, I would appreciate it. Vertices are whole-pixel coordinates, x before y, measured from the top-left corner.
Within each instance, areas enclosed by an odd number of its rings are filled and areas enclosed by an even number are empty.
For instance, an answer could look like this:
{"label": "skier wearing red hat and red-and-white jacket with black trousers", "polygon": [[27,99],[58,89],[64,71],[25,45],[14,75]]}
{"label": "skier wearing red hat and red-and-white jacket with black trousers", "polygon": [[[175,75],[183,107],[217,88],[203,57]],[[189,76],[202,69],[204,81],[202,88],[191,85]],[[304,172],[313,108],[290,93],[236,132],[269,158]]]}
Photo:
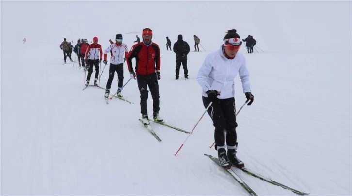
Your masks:
{"label": "skier wearing red hat and red-and-white jacket with black trousers", "polygon": [[[99,53],[100,53],[100,60],[99,60]],[[88,75],[86,80],[86,86],[89,85],[89,80],[91,79],[91,75],[93,73],[93,65],[96,68],[96,74],[94,77],[94,86],[97,86],[98,76],[99,76],[99,62],[103,57],[103,51],[101,49],[101,45],[98,44],[98,38],[93,37],[93,44],[90,44],[85,52],[84,61],[86,61],[88,68]]]}

